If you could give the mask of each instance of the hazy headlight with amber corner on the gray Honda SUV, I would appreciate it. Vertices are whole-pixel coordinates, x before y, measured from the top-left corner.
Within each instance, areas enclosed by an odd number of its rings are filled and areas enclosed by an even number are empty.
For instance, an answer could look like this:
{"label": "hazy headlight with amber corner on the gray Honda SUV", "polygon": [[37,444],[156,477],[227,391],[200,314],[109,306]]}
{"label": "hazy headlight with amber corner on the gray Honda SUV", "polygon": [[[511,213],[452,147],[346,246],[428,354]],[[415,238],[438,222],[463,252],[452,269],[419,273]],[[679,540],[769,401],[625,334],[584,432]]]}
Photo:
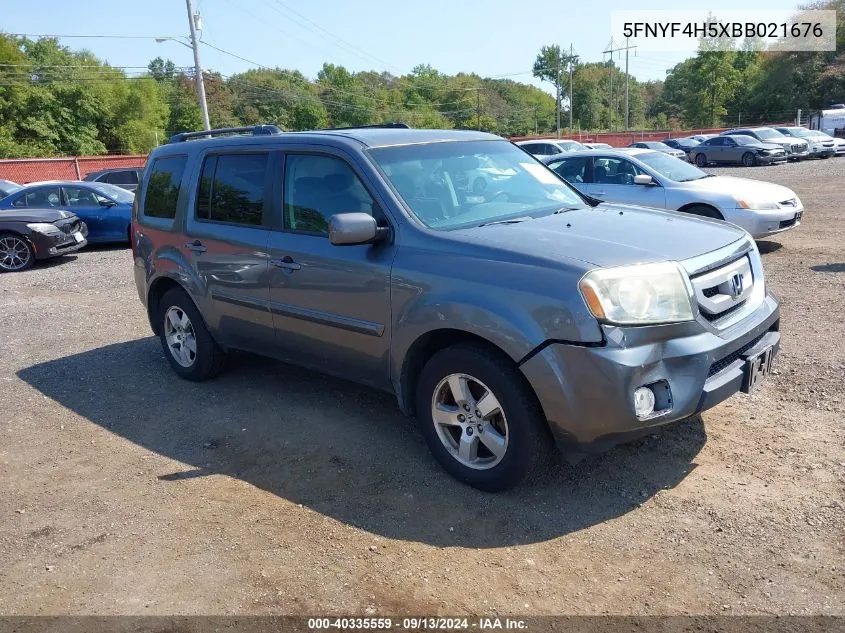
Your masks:
{"label": "hazy headlight with amber corner on the gray Honda SUV", "polygon": [[593,270],[579,287],[593,316],[607,323],[648,325],[693,318],[686,274],[674,262]]}

